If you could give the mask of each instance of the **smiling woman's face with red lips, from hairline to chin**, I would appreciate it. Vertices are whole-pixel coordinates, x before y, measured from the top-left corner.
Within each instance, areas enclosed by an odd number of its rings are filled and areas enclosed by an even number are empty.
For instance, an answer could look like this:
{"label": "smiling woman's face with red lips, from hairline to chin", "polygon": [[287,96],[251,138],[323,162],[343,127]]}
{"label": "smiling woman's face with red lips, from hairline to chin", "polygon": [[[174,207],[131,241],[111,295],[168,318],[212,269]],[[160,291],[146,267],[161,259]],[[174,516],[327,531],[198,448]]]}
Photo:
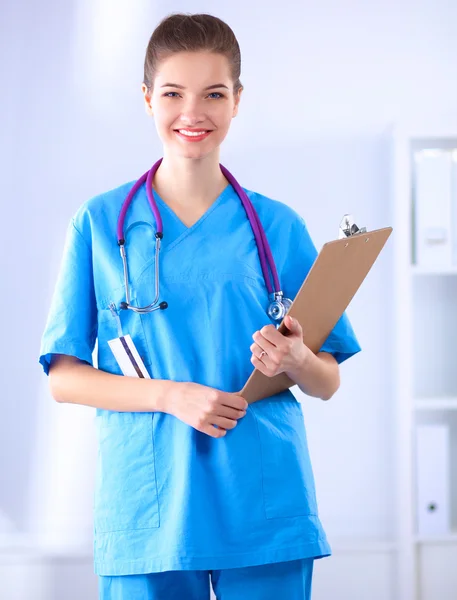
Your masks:
{"label": "smiling woman's face with red lips, from hairline to chin", "polygon": [[[173,54],[160,63],[151,96],[144,84],[142,90],[166,151],[186,158],[203,158],[220,146],[242,91],[234,96],[227,58],[211,52]],[[204,133],[189,137],[189,130]]]}

